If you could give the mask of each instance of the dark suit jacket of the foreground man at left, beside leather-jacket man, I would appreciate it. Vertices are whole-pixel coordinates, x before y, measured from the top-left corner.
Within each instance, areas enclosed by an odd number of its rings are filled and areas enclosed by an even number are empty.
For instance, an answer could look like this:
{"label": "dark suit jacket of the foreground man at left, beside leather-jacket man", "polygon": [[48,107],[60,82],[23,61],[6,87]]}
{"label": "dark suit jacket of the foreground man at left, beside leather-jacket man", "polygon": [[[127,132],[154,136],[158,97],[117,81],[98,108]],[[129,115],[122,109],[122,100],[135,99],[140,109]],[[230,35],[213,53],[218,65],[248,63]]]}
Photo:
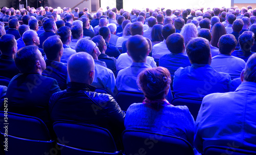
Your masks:
{"label": "dark suit jacket of the foreground man at left, beside leather-jacket man", "polygon": [[50,126],[48,104],[53,93],[61,91],[55,79],[39,74],[18,74],[8,85],[8,111],[40,118]]}

